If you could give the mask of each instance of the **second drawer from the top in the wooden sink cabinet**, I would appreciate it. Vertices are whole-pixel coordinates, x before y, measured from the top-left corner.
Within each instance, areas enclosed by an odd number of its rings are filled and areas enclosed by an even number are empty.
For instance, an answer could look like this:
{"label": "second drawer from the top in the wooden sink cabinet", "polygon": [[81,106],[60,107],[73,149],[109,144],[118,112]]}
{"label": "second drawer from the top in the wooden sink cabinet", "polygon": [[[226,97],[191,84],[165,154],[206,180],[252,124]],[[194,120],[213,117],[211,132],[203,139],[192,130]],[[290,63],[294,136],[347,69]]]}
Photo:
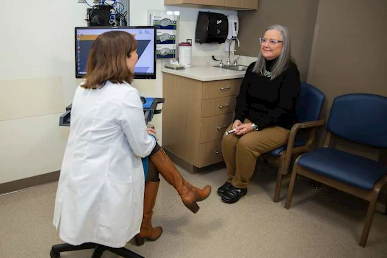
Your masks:
{"label": "second drawer from the top in the wooden sink cabinet", "polygon": [[236,95],[203,100],[202,117],[233,113],[235,110],[235,104]]}

